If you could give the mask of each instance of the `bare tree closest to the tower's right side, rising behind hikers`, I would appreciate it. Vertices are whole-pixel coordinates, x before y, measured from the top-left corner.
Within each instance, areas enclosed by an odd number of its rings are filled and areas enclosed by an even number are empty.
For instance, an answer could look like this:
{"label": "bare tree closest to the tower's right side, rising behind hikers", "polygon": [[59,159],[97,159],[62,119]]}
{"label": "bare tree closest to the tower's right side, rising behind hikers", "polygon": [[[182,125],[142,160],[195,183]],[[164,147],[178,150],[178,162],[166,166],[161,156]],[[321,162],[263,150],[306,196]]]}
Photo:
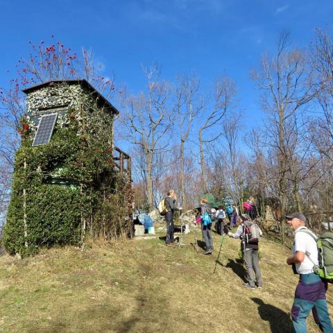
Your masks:
{"label": "bare tree closest to the tower's right side, rising behind hikers", "polygon": [[160,80],[157,65],[144,68],[147,92],[126,98],[127,111],[123,123],[128,130],[128,139],[139,146],[144,155],[142,172],[146,182],[148,207],[153,210],[153,169],[157,166],[157,155],[167,150],[169,130],[173,126],[169,108],[170,86]]}

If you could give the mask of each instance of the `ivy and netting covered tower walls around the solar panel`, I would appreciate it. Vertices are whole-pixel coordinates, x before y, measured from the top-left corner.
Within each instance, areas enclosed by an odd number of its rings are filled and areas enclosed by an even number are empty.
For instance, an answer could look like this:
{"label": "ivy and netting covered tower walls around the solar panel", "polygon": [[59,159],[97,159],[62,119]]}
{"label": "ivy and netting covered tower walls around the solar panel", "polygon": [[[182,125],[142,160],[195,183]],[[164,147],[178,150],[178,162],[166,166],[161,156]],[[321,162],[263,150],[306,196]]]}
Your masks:
{"label": "ivy and netting covered tower walls around the solar panel", "polygon": [[[103,102],[103,101],[102,101]],[[114,114],[81,83],[46,85],[27,96],[3,244],[10,254],[40,246],[110,240],[132,232],[130,180],[115,171]],[[49,144],[32,146],[43,114],[57,113]]]}

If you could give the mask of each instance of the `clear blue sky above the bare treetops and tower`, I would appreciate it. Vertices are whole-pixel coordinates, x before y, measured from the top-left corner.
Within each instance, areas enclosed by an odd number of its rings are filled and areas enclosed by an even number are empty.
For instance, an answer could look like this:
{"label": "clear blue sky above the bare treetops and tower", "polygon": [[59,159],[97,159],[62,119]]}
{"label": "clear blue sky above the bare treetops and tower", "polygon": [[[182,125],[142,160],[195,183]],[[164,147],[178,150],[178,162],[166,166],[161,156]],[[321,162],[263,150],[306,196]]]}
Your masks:
{"label": "clear blue sky above the bare treetops and tower", "polygon": [[[228,74],[239,88],[250,125],[262,118],[249,71],[263,51],[273,51],[278,33],[290,31],[293,44],[309,44],[314,28],[332,28],[333,1],[313,0],[0,0],[0,86],[15,76],[28,41],[92,48],[105,76],[138,91],[141,64],[162,65],[162,76],[196,71],[203,83]],[[10,73],[6,71],[10,70]],[[121,110],[120,110],[121,111]]]}

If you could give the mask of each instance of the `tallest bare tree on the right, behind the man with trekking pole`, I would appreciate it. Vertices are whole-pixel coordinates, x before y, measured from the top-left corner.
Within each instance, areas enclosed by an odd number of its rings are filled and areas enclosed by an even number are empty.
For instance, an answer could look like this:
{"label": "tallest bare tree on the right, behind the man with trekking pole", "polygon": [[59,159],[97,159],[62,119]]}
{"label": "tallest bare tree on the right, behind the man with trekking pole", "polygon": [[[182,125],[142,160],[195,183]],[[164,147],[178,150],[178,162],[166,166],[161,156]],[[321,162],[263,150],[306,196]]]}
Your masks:
{"label": "tallest bare tree on the right, behind the man with trekking pole", "polygon": [[270,144],[278,151],[278,199],[281,205],[280,229],[284,243],[284,215],[287,211],[287,173],[289,156],[287,147],[288,125],[296,112],[316,96],[313,72],[307,65],[305,54],[298,49],[289,51],[289,34],[278,38],[275,58],[262,57],[261,71],[253,71],[253,79],[263,91],[263,107],[269,112]]}

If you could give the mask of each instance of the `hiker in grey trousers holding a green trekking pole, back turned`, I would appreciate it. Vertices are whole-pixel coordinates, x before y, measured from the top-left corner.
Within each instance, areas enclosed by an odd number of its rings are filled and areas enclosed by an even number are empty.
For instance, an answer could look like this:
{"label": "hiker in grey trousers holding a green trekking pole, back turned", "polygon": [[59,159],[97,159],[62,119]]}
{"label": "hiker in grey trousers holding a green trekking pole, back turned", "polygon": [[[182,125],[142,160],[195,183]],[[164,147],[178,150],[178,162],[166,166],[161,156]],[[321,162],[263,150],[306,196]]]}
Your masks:
{"label": "hiker in grey trousers holding a green trekking pole, back turned", "polygon": [[[257,285],[258,288],[262,288],[262,273],[260,272],[258,257],[259,242],[250,241],[248,239],[248,233],[246,232],[253,224],[250,220],[248,214],[241,214],[241,224],[238,226],[237,231],[234,234],[228,232],[228,236],[241,239],[241,248],[244,251],[244,262],[246,266],[246,282],[244,286],[255,289],[255,285]],[[262,230],[259,229],[259,232],[261,236]]]}

